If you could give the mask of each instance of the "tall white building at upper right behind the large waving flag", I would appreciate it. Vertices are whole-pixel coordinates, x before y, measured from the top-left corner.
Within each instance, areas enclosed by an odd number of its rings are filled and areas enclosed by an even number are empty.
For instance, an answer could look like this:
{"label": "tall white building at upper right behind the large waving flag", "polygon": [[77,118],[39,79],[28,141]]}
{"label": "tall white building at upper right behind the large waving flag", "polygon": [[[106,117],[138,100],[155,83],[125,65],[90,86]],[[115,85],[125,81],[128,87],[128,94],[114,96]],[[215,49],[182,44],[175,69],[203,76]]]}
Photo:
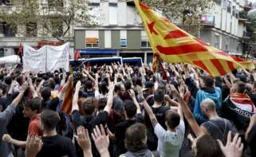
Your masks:
{"label": "tall white building at upper right behind the large waving flag", "polygon": [[[203,29],[200,38],[226,53],[242,55],[246,51],[246,41],[250,40],[246,33],[246,25],[249,24],[246,13],[251,9],[249,1],[216,1],[216,5],[209,15],[203,16],[201,19]],[[208,24],[207,18],[211,19],[212,25]]]}

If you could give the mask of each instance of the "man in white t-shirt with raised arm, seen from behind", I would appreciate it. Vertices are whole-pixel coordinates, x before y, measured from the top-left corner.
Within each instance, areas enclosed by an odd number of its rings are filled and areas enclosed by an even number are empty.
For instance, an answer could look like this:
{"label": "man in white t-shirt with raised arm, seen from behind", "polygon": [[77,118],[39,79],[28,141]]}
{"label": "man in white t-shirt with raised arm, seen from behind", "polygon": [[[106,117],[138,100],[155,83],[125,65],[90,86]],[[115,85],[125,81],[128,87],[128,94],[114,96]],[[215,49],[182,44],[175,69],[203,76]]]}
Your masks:
{"label": "man in white t-shirt with raised arm, seen from behind", "polygon": [[158,138],[157,151],[160,151],[160,154],[163,156],[178,157],[185,134],[185,124],[181,108],[179,107],[178,113],[171,110],[166,112],[165,125],[167,126],[167,130],[165,130],[156,119],[156,113],[154,114],[141,92],[140,96],[142,97],[144,108],[146,112],[148,112],[148,116]]}

